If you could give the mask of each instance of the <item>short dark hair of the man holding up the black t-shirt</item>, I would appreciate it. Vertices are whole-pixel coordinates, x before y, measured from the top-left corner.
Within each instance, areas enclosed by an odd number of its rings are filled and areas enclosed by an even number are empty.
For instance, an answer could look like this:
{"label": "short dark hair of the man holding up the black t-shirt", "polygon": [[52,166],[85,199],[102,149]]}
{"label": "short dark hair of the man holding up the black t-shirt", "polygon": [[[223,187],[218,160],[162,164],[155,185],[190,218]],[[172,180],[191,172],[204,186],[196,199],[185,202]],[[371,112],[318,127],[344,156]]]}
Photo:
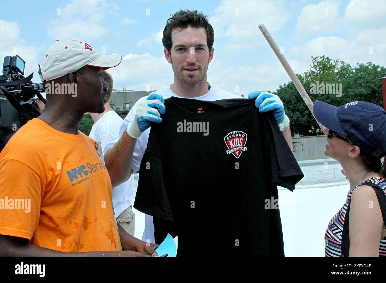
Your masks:
{"label": "short dark hair of the man holding up the black t-shirt", "polygon": [[166,21],[166,25],[164,28],[162,44],[170,53],[170,49],[172,46],[171,43],[171,33],[174,28],[186,28],[188,26],[191,27],[203,27],[205,28],[205,32],[207,33],[207,45],[209,47],[209,52],[212,50],[213,41],[214,41],[214,32],[213,27],[207,20],[208,16],[204,15],[202,12],[197,12],[197,10],[179,10],[174,13],[174,15],[170,15],[170,18]]}

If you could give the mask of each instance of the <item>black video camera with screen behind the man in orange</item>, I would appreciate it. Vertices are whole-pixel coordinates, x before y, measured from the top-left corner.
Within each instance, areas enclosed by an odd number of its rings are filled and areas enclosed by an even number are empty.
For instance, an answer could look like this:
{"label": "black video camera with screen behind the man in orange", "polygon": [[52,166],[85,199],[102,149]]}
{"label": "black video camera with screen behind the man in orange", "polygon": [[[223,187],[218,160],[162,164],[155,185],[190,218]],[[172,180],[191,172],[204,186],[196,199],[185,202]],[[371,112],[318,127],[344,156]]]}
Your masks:
{"label": "black video camera with screen behind the man in orange", "polygon": [[40,94],[44,92],[43,84],[32,83],[34,73],[24,77],[24,67],[25,61],[19,55],[4,57],[0,75],[0,142],[41,114],[35,95],[46,104]]}

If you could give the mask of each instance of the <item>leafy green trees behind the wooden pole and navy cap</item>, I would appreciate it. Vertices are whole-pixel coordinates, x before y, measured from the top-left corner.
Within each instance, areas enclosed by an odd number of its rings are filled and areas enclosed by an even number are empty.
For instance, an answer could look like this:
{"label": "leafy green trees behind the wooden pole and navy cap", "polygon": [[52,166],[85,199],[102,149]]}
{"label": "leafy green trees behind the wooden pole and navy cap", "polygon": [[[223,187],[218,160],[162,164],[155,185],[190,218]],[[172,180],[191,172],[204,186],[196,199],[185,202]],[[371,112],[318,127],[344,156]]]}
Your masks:
{"label": "leafy green trees behind the wooden pole and navy cap", "polygon": [[[371,62],[352,67],[342,60],[328,56],[312,57],[310,70],[297,74],[311,100],[340,106],[351,101],[367,101],[383,106],[381,77],[385,67]],[[327,87],[328,86],[328,87]],[[292,134],[313,136],[321,134],[320,127],[301,99],[292,82],[276,90],[291,121]]]}

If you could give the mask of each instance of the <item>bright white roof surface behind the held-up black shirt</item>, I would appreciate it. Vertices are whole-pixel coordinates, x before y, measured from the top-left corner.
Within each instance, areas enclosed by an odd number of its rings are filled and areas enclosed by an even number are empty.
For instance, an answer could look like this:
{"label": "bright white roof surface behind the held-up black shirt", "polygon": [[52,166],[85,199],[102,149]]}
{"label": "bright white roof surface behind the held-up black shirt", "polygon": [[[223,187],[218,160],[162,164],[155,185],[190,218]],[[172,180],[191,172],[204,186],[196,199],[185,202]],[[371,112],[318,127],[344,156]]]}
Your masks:
{"label": "bright white roof surface behind the held-up black shirt", "polygon": [[[349,184],[328,188],[279,190],[279,208],[286,256],[324,256],[324,234],[330,219],[342,208]],[[135,237],[141,239],[145,216],[135,213]]]}

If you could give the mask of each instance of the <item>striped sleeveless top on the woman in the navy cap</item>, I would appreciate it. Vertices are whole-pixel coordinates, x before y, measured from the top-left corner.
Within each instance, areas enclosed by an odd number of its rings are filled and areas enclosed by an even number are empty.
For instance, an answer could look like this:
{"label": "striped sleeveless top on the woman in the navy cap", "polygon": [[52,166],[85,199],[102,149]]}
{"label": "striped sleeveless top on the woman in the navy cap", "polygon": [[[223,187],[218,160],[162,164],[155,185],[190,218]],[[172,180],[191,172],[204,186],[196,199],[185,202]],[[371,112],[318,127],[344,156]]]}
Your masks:
{"label": "striped sleeveless top on the woman in the navy cap", "polygon": [[[384,179],[379,177],[372,177],[365,182],[377,184],[381,189],[383,189],[383,192],[386,194],[386,181]],[[361,186],[363,183],[359,184],[358,186]],[[355,188],[357,188],[358,186],[356,186]],[[354,189],[352,189],[352,191],[354,191]],[[330,220],[330,223],[328,223],[327,231],[324,236],[326,256],[342,256],[343,224],[346,216],[346,211],[351,200],[352,191],[350,191],[349,197],[347,198],[347,201],[344,206]],[[380,240],[379,256],[386,256],[386,237]]]}

